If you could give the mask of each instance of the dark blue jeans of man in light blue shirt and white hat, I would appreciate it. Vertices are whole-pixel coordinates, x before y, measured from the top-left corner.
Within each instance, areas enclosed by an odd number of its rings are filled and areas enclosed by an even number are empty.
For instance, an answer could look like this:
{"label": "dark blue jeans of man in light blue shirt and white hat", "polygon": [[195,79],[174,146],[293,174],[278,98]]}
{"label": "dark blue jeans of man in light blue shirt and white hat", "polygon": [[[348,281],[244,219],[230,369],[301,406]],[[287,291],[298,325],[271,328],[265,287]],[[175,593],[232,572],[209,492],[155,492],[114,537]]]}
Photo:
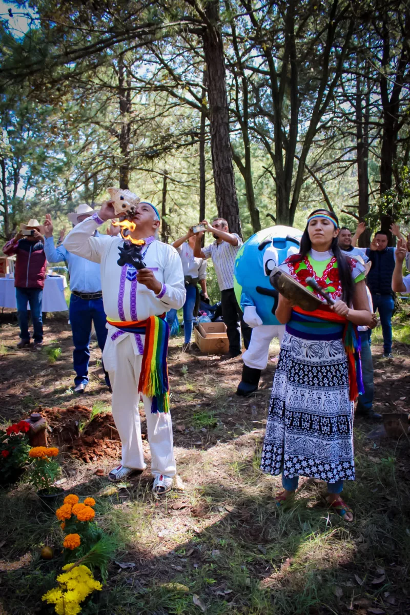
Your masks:
{"label": "dark blue jeans of man in light blue shirt and white hat", "polygon": [[[76,378],[74,378],[74,383],[78,386],[79,384],[87,384],[89,381],[92,321],[94,321],[98,346],[100,346],[101,351],[103,351],[107,339],[107,321],[102,298],[86,300],[71,294],[69,302],[69,320],[73,332],[74,371],[76,371],[77,374]],[[105,374],[105,381],[107,386],[109,386],[107,373]]]}

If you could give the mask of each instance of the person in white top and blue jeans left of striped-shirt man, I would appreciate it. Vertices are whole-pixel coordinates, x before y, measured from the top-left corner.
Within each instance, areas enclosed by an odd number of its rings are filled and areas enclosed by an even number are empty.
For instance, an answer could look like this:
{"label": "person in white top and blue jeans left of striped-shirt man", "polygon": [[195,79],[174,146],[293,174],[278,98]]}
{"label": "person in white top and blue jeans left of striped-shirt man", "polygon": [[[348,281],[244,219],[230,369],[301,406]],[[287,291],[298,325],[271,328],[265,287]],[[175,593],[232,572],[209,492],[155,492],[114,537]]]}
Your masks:
{"label": "person in white top and blue jeans left of striped-shirt man", "polygon": [[[199,231],[195,232],[199,228]],[[205,299],[208,299],[207,293],[207,261],[203,258],[195,258],[194,247],[197,237],[203,236],[204,225],[197,224],[188,232],[176,239],[173,242],[173,247],[178,250],[181,258],[182,268],[184,271],[184,283],[186,290],[186,300],[184,303],[184,345],[183,352],[189,352],[191,349],[192,322],[194,320],[194,311],[197,300],[199,300],[198,283],[202,289],[202,294]],[[172,327],[175,320],[176,309],[170,309],[167,313],[168,327]]]}

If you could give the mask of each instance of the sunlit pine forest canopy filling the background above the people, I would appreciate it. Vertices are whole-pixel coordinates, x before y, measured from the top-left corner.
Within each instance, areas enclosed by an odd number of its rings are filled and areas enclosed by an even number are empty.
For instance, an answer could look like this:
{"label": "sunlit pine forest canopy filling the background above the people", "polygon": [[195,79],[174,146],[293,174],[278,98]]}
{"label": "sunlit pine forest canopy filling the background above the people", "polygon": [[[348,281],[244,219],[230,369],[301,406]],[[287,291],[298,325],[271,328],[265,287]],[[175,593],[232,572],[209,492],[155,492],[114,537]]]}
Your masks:
{"label": "sunlit pine forest canopy filling the background above the people", "polygon": [[2,6],[3,239],[111,185],[162,208],[166,241],[216,213],[245,238],[313,207],[408,223],[406,3]]}

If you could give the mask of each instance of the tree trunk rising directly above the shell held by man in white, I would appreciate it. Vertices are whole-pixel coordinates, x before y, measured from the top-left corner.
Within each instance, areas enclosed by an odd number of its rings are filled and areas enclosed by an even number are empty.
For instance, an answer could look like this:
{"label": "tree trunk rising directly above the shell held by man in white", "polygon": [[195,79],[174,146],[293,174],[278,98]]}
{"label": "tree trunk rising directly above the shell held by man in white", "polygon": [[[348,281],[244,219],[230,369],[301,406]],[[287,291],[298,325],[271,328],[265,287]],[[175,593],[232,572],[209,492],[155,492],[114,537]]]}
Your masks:
{"label": "tree trunk rising directly above the shell held by man in white", "polygon": [[119,168],[120,188],[128,189],[130,183],[130,113],[131,113],[131,77],[124,63],[124,56],[118,58],[118,95],[121,119],[120,152],[121,162]]}

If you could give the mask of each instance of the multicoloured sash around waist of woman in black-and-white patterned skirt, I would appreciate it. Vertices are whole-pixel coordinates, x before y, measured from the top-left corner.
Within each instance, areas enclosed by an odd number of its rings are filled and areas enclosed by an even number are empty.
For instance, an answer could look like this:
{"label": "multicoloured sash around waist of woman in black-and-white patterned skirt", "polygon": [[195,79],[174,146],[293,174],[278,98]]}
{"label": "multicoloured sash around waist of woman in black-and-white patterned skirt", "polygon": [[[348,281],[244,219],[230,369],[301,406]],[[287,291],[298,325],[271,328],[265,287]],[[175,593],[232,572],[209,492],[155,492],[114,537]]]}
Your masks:
{"label": "multicoloured sash around waist of woman in black-and-white patterned skirt", "polygon": [[[293,307],[293,312],[296,314],[296,322],[293,326],[292,320],[286,325],[286,331],[293,333],[298,337],[306,339],[320,339],[320,331],[315,331],[314,325],[320,324],[320,321],[332,323],[335,325],[334,330],[323,331],[325,339],[340,339],[342,338],[345,352],[347,354],[347,363],[349,367],[349,397],[353,402],[358,395],[365,392],[363,379],[361,376],[361,360],[360,360],[360,335],[358,335],[357,327],[344,316],[335,314],[328,306],[315,309],[313,312],[307,312],[298,306]],[[339,333],[337,333],[337,324],[341,325]],[[299,327],[298,327],[299,325]],[[305,325],[305,327],[304,327]],[[313,333],[312,333],[313,325]],[[298,329],[296,329],[298,327]],[[303,332],[305,330],[305,333]]]}

